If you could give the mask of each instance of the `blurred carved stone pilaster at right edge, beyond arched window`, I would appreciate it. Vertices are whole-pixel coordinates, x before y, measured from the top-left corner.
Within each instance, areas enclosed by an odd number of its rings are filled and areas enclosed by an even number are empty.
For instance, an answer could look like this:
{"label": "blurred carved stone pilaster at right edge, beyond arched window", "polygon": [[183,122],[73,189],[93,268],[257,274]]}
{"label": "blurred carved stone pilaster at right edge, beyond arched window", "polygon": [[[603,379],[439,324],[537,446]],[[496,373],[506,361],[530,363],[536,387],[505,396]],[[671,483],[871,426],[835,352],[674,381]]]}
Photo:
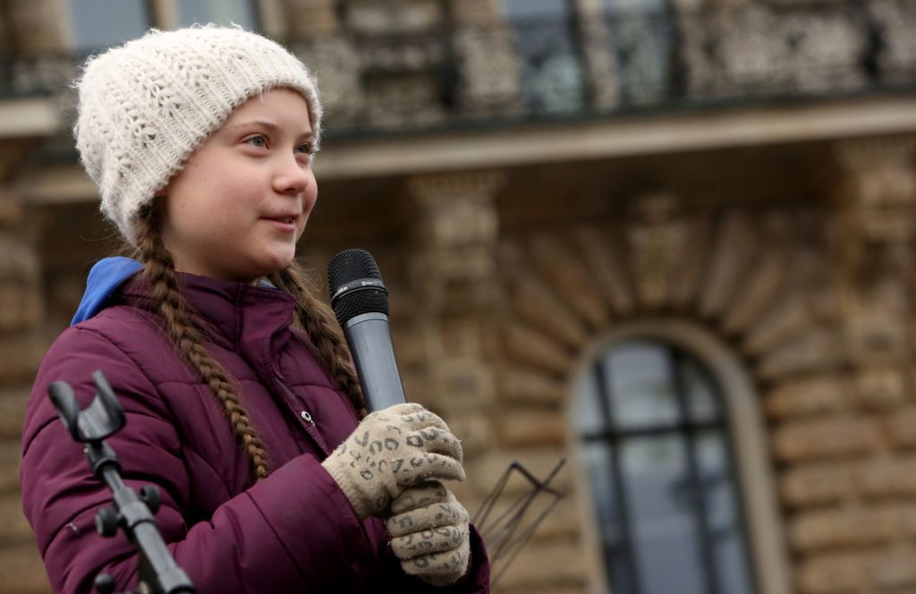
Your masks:
{"label": "blurred carved stone pilaster at right edge, beyond arched window", "polygon": [[896,410],[911,398],[916,137],[845,141],[836,154],[845,180],[832,239],[856,402]]}

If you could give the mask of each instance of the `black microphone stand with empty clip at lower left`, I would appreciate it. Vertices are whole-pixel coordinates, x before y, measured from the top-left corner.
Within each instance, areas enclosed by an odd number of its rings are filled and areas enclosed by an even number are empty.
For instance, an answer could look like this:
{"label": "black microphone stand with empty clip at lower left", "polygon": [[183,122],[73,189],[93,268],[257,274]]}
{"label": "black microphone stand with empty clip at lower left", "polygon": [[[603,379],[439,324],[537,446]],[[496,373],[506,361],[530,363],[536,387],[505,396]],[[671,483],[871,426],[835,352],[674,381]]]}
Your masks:
{"label": "black microphone stand with empty clip at lower left", "polygon": [[[95,529],[105,537],[122,528],[140,553],[139,585],[133,593],[125,594],[185,594],[196,592],[191,579],[175,563],[156,527],[153,515],[158,512],[161,497],[155,485],[144,485],[140,495],[121,479],[121,463],[104,438],[114,435],[125,425],[124,409],[114,398],[114,392],[102,371],[93,373],[97,391],[93,402],[80,410],[70,384],[55,381],[48,393],[64,427],[73,439],[83,444],[93,474],[112,490],[113,507],[99,510]],[[114,592],[114,578],[100,574],[95,578],[100,594]]]}

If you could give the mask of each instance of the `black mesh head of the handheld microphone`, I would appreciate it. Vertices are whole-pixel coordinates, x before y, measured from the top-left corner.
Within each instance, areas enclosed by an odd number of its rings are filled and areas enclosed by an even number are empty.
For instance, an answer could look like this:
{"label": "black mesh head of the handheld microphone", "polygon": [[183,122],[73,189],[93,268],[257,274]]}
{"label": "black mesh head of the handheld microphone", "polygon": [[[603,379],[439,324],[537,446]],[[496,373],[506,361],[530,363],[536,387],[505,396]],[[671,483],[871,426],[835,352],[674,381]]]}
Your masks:
{"label": "black mesh head of the handheld microphone", "polygon": [[365,249],[344,249],[328,262],[328,290],[337,322],[361,314],[388,314],[388,292],[376,259]]}

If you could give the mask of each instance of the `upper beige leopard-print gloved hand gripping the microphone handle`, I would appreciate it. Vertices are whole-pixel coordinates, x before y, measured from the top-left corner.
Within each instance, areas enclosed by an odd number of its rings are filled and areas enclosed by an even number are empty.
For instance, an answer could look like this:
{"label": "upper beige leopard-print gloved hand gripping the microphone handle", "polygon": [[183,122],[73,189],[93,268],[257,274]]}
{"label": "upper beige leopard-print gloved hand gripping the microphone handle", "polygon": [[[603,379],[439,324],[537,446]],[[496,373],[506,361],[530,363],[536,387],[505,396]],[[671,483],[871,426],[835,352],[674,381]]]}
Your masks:
{"label": "upper beige leopard-print gloved hand gripping the microphone handle", "polygon": [[420,404],[371,413],[322,462],[361,519],[387,512],[401,491],[431,479],[464,479],[462,449]]}

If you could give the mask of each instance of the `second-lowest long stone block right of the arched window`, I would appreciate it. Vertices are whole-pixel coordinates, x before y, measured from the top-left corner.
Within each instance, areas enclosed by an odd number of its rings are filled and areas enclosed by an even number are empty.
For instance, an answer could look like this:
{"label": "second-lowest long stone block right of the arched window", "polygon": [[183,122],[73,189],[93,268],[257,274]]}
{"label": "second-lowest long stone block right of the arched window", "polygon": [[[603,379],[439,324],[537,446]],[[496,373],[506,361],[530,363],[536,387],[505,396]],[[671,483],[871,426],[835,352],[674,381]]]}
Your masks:
{"label": "second-lowest long stone block right of the arched window", "polygon": [[898,507],[802,512],[790,526],[791,546],[808,552],[888,543],[902,536],[903,517]]}

